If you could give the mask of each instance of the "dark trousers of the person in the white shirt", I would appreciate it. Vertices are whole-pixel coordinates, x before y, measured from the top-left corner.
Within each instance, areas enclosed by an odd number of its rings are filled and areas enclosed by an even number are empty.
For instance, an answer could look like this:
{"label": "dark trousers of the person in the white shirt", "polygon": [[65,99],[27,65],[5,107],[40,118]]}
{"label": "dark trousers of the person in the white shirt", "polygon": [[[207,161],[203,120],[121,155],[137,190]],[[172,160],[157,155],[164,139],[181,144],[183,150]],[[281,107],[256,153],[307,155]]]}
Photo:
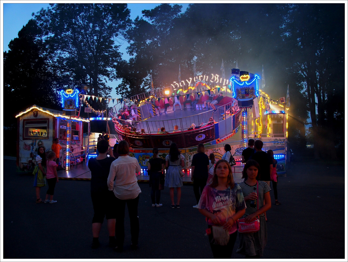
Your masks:
{"label": "dark trousers of the person in the white shirt", "polygon": [[128,208],[130,220],[130,235],[132,236],[132,244],[138,244],[139,238],[139,218],[138,218],[138,203],[139,195],[133,199],[119,199],[116,197],[116,242],[118,247],[123,247],[125,240],[125,208]]}

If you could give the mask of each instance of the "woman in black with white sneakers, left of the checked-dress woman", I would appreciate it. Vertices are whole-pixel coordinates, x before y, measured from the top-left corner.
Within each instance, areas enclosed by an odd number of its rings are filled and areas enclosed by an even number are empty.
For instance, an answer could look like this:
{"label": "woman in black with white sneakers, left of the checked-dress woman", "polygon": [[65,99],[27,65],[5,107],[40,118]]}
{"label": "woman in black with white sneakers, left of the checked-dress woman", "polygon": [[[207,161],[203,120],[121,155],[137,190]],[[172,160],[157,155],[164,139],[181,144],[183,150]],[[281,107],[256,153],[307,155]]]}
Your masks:
{"label": "woman in black with white sneakers, left of the checked-dress woman", "polygon": [[154,148],[152,153],[153,157],[148,163],[148,174],[150,176],[151,185],[151,201],[153,207],[156,206],[159,208],[162,206],[162,204],[159,203],[159,199],[161,197],[161,189],[159,188],[159,184],[160,180],[163,179],[165,161],[164,159],[158,157],[158,148]]}

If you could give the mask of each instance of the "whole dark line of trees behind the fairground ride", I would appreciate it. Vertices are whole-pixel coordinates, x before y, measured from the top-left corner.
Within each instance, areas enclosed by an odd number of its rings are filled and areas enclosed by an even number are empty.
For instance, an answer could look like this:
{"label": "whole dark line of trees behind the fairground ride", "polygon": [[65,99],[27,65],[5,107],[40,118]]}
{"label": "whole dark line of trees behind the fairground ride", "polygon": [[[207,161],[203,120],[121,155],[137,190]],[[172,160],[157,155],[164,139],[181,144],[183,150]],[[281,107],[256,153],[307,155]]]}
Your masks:
{"label": "whole dark line of trees behind the fairground ride", "polygon": [[[343,7],[190,4],[181,13],[179,5],[161,4],[131,21],[126,4],[51,4],[5,52],[5,92],[20,99],[41,88],[47,95],[31,98],[45,104],[55,101],[51,90],[58,86],[83,83],[90,94],[108,96],[110,81],[121,79],[116,90],[129,98],[149,90],[150,75],[155,86],[177,81],[179,65],[182,80],[192,77],[194,58],[201,74],[220,74],[223,59],[226,78],[237,60],[252,73],[261,74],[263,65],[264,91],[272,99],[285,96],[290,86],[292,147],[304,147],[310,117],[315,156],[334,159],[344,143]],[[121,58],[122,40],[129,43],[129,61]],[[21,84],[16,70],[26,76]]]}

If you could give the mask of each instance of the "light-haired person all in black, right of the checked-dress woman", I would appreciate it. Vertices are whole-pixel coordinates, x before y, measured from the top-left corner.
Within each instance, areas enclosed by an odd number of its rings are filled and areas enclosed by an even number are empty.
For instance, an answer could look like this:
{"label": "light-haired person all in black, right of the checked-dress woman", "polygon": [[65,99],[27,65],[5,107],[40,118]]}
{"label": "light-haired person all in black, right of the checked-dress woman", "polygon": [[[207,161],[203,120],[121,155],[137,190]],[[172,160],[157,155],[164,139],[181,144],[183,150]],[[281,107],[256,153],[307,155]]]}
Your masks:
{"label": "light-haired person all in black, right of the checked-dress woman", "polygon": [[204,144],[200,143],[197,146],[197,154],[193,155],[191,164],[191,181],[193,181],[193,192],[195,193],[197,204],[193,208],[198,208],[198,202],[200,199],[200,192],[203,192],[203,188],[207,184],[209,169],[209,158],[205,154]]}

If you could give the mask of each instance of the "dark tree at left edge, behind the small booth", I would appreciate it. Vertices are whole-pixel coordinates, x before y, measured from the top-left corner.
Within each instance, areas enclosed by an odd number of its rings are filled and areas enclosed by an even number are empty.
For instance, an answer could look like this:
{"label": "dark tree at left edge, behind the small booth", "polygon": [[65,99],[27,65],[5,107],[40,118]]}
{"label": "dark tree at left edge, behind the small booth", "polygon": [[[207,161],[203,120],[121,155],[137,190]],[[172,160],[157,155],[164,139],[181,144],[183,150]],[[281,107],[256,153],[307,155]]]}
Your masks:
{"label": "dark tree at left edge, behind the small booth", "polygon": [[[14,101],[23,110],[33,104],[59,109],[55,92],[57,77],[42,55],[41,29],[31,19],[9,43],[9,51],[3,53],[4,100]],[[15,114],[4,114],[4,125],[16,125]]]}

